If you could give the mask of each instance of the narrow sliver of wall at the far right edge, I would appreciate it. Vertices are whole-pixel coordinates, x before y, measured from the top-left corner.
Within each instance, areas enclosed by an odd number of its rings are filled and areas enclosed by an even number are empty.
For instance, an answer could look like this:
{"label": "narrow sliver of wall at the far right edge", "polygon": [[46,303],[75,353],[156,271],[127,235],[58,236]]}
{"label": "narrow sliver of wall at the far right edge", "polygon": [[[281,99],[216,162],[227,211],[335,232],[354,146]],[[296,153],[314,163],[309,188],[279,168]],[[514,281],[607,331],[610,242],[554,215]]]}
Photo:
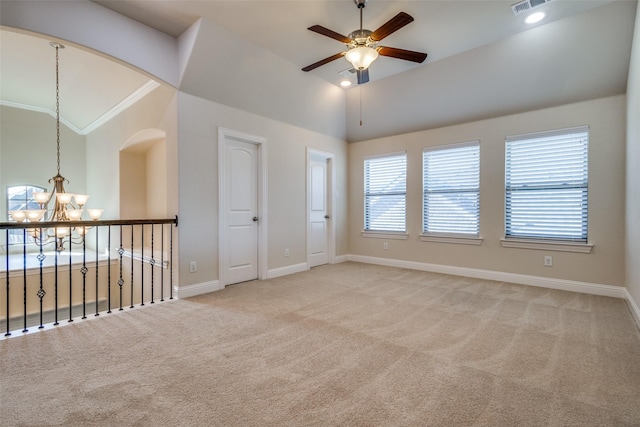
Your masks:
{"label": "narrow sliver of wall at the far right edge", "polygon": [[[640,307],[640,8],[636,12],[636,27],[627,84],[627,289]],[[640,312],[636,313],[640,316]],[[640,322],[640,319],[638,319]]]}

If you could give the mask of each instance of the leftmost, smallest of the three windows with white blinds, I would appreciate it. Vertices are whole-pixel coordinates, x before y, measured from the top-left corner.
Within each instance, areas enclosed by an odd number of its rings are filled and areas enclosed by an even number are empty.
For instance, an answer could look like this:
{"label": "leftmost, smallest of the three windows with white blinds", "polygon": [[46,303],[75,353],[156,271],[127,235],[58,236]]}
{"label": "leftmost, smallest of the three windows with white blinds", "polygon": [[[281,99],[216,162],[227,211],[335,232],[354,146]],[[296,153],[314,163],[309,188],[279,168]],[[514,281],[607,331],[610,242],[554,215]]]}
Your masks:
{"label": "leftmost, smallest of the three windows with white blinds", "polygon": [[364,161],[365,231],[406,230],[407,154]]}

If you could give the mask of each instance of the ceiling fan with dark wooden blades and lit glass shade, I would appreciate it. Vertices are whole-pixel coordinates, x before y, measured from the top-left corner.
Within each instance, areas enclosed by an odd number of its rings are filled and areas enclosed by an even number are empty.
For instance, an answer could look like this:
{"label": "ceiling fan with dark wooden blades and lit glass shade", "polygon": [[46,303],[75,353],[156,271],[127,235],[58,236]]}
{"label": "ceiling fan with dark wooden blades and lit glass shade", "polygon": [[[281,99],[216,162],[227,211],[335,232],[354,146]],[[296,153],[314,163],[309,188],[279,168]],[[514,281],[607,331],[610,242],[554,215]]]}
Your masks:
{"label": "ceiling fan with dark wooden blades and lit glass shade", "polygon": [[329,62],[335,61],[343,56],[353,65],[358,76],[358,84],[367,83],[369,81],[369,65],[376,60],[378,55],[389,56],[391,58],[403,59],[422,63],[427,54],[423,52],[415,52],[412,50],[398,49],[395,47],[378,46],[378,43],[388,35],[395,33],[400,28],[413,22],[411,15],[400,12],[380,28],[370,31],[362,28],[362,9],[364,9],[367,0],[353,0],[358,9],[360,9],[360,29],[355,30],[349,36],[343,36],[321,25],[314,25],[308,30],[323,36],[338,40],[347,45],[345,52],[336,53],[328,58],[322,59],[302,69],[302,71],[311,71]]}

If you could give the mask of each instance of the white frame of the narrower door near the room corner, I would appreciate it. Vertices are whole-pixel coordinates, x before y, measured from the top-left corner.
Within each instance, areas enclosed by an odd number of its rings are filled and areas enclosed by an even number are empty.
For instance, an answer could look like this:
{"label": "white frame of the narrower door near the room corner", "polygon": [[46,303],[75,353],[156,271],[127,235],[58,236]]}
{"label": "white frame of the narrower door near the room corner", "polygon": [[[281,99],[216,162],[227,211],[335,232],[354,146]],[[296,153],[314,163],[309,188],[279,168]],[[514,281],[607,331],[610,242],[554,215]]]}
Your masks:
{"label": "white frame of the narrower door near the room corner", "polygon": [[[327,212],[329,214],[329,221],[327,221],[327,254],[329,258],[329,264],[335,263],[336,258],[336,203],[335,203],[335,183],[336,183],[336,168],[334,166],[335,154],[327,151],[315,150],[307,147],[307,197],[306,197],[306,224],[307,229],[307,265],[311,258],[311,157],[322,157],[327,161]],[[308,268],[308,267],[307,267]]]}

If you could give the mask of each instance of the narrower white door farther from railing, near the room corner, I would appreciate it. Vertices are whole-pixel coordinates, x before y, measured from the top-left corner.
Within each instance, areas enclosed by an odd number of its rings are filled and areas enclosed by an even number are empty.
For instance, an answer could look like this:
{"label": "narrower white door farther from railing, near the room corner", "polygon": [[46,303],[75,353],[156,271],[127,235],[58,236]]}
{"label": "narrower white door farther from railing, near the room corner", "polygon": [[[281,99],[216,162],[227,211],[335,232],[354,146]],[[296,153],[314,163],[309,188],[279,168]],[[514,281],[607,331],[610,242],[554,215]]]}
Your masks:
{"label": "narrower white door farther from railing, near the room corner", "polygon": [[329,262],[328,221],[330,217],[327,194],[327,159],[312,154],[309,158],[309,267]]}

